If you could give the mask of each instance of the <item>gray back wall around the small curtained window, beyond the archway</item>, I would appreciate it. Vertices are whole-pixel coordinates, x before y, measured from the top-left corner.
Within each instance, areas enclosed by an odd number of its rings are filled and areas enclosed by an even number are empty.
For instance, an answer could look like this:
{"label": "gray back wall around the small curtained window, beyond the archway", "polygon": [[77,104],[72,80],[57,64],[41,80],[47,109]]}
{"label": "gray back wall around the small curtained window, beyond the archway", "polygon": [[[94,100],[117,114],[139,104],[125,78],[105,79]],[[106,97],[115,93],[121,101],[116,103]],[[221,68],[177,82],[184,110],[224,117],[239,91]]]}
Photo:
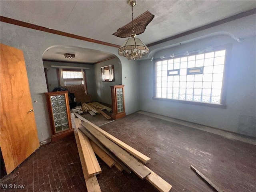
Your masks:
{"label": "gray back wall around the small curtained window, beyond the archway", "polygon": [[44,68],[48,68],[47,79],[49,85],[49,91],[52,91],[55,87],[58,86],[58,78],[56,73],[56,68],[52,68],[52,65],[59,65],[59,66],[74,66],[74,67],[88,67],[90,69],[86,69],[86,80],[87,80],[87,88],[88,92],[91,95],[95,93],[95,78],[94,78],[94,65],[90,64],[77,64],[77,63],[65,63],[65,62],[50,62],[50,61],[43,61]]}

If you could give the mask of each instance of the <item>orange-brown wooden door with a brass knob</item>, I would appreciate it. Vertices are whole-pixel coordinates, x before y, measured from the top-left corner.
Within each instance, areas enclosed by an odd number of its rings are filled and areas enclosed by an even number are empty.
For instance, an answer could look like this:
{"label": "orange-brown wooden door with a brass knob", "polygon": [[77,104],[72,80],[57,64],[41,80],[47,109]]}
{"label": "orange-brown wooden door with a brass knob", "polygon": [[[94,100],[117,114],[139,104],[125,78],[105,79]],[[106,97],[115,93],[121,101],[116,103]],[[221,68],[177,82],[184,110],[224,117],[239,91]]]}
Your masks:
{"label": "orange-brown wooden door with a brass knob", "polygon": [[0,146],[9,174],[40,146],[21,50],[1,44],[0,80]]}

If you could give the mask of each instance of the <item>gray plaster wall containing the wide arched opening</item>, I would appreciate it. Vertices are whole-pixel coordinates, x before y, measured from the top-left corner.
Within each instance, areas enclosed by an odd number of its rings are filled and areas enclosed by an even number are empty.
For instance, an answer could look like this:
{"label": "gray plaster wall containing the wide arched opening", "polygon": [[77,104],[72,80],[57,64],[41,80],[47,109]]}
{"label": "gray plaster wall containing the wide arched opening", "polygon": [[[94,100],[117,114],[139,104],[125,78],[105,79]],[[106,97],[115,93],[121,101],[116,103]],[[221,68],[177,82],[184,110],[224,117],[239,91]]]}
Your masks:
{"label": "gray plaster wall containing the wide arched opening", "polygon": [[[4,22],[1,22],[1,43],[18,48],[24,53],[40,141],[47,140],[51,136],[49,116],[44,96],[44,92],[47,92],[44,65],[42,62],[44,51],[55,45],[69,45],[100,50],[113,55],[118,53],[118,48],[50,34]],[[125,85],[126,92],[131,93],[137,91],[132,96],[130,94],[126,95],[126,114],[131,114],[139,109],[138,64],[118,55],[116,57],[119,58],[122,64],[122,74],[127,76],[127,78],[122,76],[122,84]],[[35,100],[37,102],[34,102]]]}

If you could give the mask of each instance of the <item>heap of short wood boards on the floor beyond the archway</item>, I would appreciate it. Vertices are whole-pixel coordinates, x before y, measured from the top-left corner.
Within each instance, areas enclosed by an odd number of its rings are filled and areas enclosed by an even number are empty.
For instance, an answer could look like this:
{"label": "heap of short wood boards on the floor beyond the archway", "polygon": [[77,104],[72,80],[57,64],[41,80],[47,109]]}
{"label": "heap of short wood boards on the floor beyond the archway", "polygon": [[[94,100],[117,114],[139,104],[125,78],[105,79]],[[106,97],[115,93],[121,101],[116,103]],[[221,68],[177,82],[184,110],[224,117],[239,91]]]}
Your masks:
{"label": "heap of short wood boards on the floor beyond the archway", "polygon": [[77,106],[74,109],[72,109],[73,112],[77,112],[79,114],[89,113],[92,116],[96,114],[102,114],[105,118],[110,120],[111,117],[108,116],[108,114],[106,114],[102,110],[107,110],[108,112],[112,112],[111,108],[104,106],[98,102],[83,103],[82,106]]}

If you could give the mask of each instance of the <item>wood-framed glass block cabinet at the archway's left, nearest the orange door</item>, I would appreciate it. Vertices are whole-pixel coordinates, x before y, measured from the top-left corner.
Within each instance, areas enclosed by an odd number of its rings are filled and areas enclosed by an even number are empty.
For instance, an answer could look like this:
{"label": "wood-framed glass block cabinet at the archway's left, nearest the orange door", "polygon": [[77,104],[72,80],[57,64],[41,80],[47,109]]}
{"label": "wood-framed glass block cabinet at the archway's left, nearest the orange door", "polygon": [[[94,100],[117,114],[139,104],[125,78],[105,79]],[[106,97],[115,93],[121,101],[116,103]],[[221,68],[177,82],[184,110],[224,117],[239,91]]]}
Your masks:
{"label": "wood-framed glass block cabinet at the archway's left, nearest the orange door", "polygon": [[46,96],[50,124],[52,129],[52,142],[55,142],[73,133],[68,103],[68,91],[44,93]]}

